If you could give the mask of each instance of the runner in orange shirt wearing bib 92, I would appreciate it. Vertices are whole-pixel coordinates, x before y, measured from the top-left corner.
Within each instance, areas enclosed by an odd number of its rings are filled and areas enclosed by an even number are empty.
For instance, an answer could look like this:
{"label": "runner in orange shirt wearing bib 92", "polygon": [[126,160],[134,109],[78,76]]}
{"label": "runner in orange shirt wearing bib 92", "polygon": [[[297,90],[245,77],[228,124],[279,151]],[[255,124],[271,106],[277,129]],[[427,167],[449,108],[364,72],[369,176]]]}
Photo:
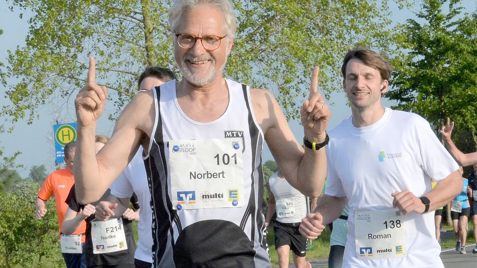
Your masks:
{"label": "runner in orange shirt wearing bib 92", "polygon": [[[69,191],[75,183],[75,179],[73,177],[73,160],[75,158],[75,149],[76,142],[69,142],[65,145],[66,168],[54,171],[49,174],[48,178],[38,191],[38,198],[36,199],[35,203],[35,216],[37,219],[41,219],[47,213],[47,209],[45,208],[46,202],[52,195],[55,196],[60,233],[62,231],[62,223],[63,219],[65,218],[66,209],[68,208],[68,205],[65,203],[66,197],[68,197]],[[79,247],[78,245],[80,243],[80,238],[78,236],[81,236],[81,244],[83,246],[85,242],[85,230],[86,222],[83,221],[76,232],[73,233],[73,237],[64,236],[62,234],[62,254],[67,268],[86,268],[84,254],[70,253],[72,251],[79,252],[82,250],[82,247]],[[68,241],[72,244],[69,245]],[[76,250],[73,250],[73,248],[75,248],[75,243],[77,243]]]}

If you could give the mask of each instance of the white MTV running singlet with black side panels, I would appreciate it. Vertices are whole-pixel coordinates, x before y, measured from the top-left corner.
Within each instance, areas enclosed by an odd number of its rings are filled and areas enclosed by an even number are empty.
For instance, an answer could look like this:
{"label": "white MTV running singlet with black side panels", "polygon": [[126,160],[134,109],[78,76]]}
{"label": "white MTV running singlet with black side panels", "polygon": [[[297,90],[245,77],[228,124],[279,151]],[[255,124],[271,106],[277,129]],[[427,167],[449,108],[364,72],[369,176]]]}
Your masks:
{"label": "white MTV running singlet with black side panels", "polygon": [[[249,88],[229,79],[226,81],[230,96],[227,110],[207,123],[196,122],[181,110],[176,97],[176,80],[153,89],[156,117],[150,149],[144,159],[152,193],[153,267],[271,267],[262,213],[263,132],[255,119]],[[172,192],[171,186],[177,187],[178,183],[171,183],[170,151],[176,154],[173,163],[176,177],[178,167],[189,172],[192,166],[201,163],[204,168],[210,168],[215,161],[217,165],[233,162],[233,158],[220,153],[216,159],[197,159],[194,165],[177,160],[179,154],[190,157],[188,154],[194,153],[194,144],[202,148],[206,143],[200,141],[211,139],[230,141],[230,146],[237,146],[234,149],[242,153],[241,188],[232,189],[234,192],[197,192],[194,188]],[[240,144],[235,144],[236,141]],[[214,150],[220,147],[214,146]],[[222,172],[190,171],[190,177],[177,179],[189,181],[191,187],[204,182],[213,188],[220,185],[220,179],[227,177],[228,172],[227,169]],[[237,175],[230,177],[235,179]],[[210,205],[218,200],[220,204],[229,200],[233,206],[191,208],[194,204],[210,201],[212,203],[207,203]]]}

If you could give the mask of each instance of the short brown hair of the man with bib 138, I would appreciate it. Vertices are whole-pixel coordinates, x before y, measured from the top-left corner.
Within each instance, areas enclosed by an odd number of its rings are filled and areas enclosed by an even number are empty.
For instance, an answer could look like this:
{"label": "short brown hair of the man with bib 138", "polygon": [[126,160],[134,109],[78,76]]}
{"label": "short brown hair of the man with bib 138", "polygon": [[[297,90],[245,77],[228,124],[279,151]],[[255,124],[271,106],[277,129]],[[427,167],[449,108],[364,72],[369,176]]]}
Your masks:
{"label": "short brown hair of the man with bib 138", "polygon": [[389,81],[393,66],[379,53],[366,48],[355,48],[346,53],[343,65],[341,65],[343,79],[346,79],[346,65],[351,59],[358,59],[367,66],[378,70],[379,74],[381,74],[381,79]]}

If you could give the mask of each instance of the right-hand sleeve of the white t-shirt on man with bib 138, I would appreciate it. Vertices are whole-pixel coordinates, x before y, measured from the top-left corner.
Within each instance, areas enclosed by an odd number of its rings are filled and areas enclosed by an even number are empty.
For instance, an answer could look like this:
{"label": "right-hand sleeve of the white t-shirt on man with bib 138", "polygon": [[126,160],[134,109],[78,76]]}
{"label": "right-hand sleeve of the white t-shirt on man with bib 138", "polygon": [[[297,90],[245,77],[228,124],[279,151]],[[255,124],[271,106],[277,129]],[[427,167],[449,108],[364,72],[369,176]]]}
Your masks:
{"label": "right-hand sleeve of the white t-shirt on man with bib 138", "polygon": [[415,134],[420,148],[422,167],[434,181],[438,182],[458,170],[459,165],[439,141],[429,123],[422,117],[417,117],[416,121]]}

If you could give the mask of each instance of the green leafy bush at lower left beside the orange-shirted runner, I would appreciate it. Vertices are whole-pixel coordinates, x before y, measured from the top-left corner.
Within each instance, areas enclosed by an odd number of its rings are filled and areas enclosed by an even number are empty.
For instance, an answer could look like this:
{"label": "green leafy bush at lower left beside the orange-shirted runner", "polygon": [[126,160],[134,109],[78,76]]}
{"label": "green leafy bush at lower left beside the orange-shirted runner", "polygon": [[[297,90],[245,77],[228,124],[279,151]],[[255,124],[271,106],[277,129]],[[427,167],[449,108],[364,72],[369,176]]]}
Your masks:
{"label": "green leafy bush at lower left beside the orange-shirted runner", "polygon": [[0,194],[0,267],[64,266],[54,202],[47,203],[45,217],[34,217],[38,188],[24,181],[15,191]]}

